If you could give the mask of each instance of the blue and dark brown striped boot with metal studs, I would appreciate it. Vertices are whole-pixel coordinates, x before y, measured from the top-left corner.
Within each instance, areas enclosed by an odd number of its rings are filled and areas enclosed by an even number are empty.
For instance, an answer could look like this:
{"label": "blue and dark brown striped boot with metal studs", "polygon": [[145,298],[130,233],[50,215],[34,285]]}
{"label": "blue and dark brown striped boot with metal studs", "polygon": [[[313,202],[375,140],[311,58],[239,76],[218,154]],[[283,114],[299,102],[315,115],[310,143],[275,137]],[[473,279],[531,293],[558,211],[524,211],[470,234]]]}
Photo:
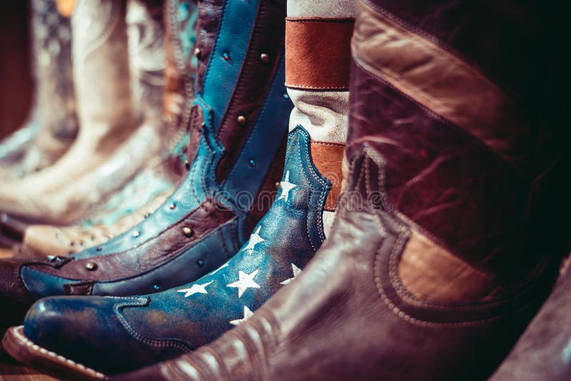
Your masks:
{"label": "blue and dark brown striped boot with metal studs", "polygon": [[268,211],[292,108],[283,33],[275,33],[285,3],[202,1],[198,15],[185,180],[155,213],[102,245],[1,262],[0,298],[12,306],[4,322],[21,321],[32,300],[49,295],[143,295],[196,280],[231,258]]}

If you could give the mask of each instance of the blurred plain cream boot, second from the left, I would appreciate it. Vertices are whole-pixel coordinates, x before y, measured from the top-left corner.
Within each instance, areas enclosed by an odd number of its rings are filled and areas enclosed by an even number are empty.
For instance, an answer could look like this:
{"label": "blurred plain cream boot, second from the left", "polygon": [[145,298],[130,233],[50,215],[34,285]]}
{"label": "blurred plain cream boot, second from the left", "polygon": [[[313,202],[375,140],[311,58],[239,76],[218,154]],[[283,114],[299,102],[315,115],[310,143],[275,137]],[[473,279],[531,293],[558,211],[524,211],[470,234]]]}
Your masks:
{"label": "blurred plain cream boot, second from the left", "polygon": [[77,220],[160,148],[161,126],[138,125],[133,115],[124,2],[78,1],[72,30],[79,136],[54,166],[1,186],[0,210],[22,219]]}

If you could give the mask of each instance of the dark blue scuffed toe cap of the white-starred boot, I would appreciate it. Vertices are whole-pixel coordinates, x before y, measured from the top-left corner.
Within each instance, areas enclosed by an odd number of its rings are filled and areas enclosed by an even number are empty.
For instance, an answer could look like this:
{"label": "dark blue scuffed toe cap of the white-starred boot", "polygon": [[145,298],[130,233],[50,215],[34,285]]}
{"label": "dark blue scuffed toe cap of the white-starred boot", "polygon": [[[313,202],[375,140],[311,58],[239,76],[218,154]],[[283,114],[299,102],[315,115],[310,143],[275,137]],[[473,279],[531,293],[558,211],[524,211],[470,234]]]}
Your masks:
{"label": "dark blue scuffed toe cap of the white-starred boot", "polygon": [[36,345],[98,372],[113,375],[134,370],[152,362],[157,348],[154,340],[130,330],[120,314],[122,308],[147,303],[147,298],[139,297],[44,298],[26,315],[24,335]]}

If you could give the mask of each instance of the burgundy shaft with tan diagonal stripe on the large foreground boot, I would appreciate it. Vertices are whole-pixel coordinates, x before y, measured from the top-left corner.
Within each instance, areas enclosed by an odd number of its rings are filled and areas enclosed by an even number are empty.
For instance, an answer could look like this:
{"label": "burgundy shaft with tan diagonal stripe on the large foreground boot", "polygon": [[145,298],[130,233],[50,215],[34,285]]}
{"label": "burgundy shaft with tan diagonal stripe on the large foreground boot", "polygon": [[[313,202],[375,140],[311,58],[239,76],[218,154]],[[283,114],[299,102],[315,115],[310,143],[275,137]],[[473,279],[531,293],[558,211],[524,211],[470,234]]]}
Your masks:
{"label": "burgundy shaft with tan diagonal stripe on the large foreground boot", "polygon": [[[529,107],[537,82],[521,78],[539,64],[543,25],[524,7],[516,17],[500,6],[416,3],[358,2],[346,157],[364,143],[378,151],[384,207],[510,283],[545,258],[522,240],[537,176]],[[473,36],[494,37],[482,44]]]}

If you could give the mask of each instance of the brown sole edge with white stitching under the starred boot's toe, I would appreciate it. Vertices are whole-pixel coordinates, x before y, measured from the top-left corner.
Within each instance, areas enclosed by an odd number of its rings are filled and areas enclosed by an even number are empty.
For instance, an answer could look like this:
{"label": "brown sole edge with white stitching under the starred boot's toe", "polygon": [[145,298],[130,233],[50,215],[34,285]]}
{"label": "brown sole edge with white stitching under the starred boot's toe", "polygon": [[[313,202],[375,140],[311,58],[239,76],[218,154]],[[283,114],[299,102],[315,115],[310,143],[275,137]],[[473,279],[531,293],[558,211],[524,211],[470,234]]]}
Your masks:
{"label": "brown sole edge with white stitching under the starred boot's toe", "polygon": [[64,380],[106,380],[101,372],[34,344],[24,335],[24,325],[11,327],[2,338],[4,350],[19,362]]}

